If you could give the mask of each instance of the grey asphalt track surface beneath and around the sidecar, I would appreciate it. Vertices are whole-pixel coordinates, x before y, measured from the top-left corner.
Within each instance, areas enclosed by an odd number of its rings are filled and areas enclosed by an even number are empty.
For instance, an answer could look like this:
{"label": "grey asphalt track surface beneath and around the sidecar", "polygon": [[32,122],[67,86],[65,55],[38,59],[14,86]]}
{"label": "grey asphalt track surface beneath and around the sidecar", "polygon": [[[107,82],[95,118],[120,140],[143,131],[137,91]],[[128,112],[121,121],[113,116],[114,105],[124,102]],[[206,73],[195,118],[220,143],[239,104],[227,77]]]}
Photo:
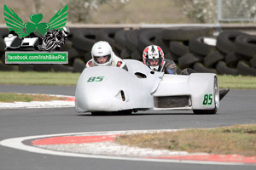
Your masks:
{"label": "grey asphalt track surface beneath and around the sidecar", "polygon": [[[75,87],[0,85],[0,92],[74,95]],[[217,115],[191,111],[138,112],[131,116],[90,116],[74,108],[0,110],[0,140],[54,133],[218,127],[256,122],[256,90],[231,89]],[[252,166],[201,165],[49,156],[0,146],[0,169],[183,169],[235,170]]]}

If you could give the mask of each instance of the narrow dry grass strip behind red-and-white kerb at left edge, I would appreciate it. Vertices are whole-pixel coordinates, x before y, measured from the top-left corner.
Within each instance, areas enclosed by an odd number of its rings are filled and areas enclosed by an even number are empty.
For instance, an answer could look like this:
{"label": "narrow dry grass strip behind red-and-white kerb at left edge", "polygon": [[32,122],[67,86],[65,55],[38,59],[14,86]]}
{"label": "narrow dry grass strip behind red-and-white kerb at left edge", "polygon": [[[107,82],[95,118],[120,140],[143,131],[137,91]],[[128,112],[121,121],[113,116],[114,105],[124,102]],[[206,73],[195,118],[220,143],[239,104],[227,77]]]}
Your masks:
{"label": "narrow dry grass strip behind red-and-white kerb at left edge", "polygon": [[13,103],[31,102],[31,101],[51,101],[51,100],[65,100],[65,98],[49,96],[44,94],[13,94],[13,93],[0,93],[0,102]]}

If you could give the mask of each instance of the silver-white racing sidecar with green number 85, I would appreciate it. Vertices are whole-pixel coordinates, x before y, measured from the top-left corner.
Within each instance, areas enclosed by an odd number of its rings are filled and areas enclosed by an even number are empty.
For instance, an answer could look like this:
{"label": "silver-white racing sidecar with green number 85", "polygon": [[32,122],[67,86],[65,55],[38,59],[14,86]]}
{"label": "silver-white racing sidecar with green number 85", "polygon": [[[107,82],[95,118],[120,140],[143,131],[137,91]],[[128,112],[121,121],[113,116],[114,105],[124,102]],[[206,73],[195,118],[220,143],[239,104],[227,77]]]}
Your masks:
{"label": "silver-white racing sidecar with green number 85", "polygon": [[77,112],[173,111],[215,114],[219,108],[218,78],[212,73],[189,76],[151,71],[142,62],[125,59],[128,71],[113,66],[84,69],[76,87]]}

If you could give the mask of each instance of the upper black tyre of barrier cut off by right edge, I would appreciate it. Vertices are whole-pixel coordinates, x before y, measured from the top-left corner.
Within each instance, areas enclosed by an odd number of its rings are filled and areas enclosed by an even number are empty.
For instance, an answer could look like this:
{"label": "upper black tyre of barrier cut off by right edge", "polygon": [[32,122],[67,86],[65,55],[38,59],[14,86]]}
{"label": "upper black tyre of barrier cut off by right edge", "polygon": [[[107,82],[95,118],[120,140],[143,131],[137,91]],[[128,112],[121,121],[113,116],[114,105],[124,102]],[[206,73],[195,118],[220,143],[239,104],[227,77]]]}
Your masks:
{"label": "upper black tyre of barrier cut off by right edge", "polygon": [[236,37],[235,52],[253,58],[256,56],[256,36]]}

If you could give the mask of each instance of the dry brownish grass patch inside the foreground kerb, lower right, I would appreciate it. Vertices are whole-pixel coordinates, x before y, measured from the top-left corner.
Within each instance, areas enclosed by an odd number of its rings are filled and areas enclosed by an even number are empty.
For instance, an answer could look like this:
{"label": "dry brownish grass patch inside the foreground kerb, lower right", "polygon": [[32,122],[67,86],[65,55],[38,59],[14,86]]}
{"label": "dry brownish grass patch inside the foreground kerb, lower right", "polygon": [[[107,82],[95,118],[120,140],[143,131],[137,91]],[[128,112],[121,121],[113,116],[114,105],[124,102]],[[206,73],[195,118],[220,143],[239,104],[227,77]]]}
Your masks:
{"label": "dry brownish grass patch inside the foreground kerb, lower right", "polygon": [[115,142],[158,150],[256,156],[256,124],[122,135]]}

